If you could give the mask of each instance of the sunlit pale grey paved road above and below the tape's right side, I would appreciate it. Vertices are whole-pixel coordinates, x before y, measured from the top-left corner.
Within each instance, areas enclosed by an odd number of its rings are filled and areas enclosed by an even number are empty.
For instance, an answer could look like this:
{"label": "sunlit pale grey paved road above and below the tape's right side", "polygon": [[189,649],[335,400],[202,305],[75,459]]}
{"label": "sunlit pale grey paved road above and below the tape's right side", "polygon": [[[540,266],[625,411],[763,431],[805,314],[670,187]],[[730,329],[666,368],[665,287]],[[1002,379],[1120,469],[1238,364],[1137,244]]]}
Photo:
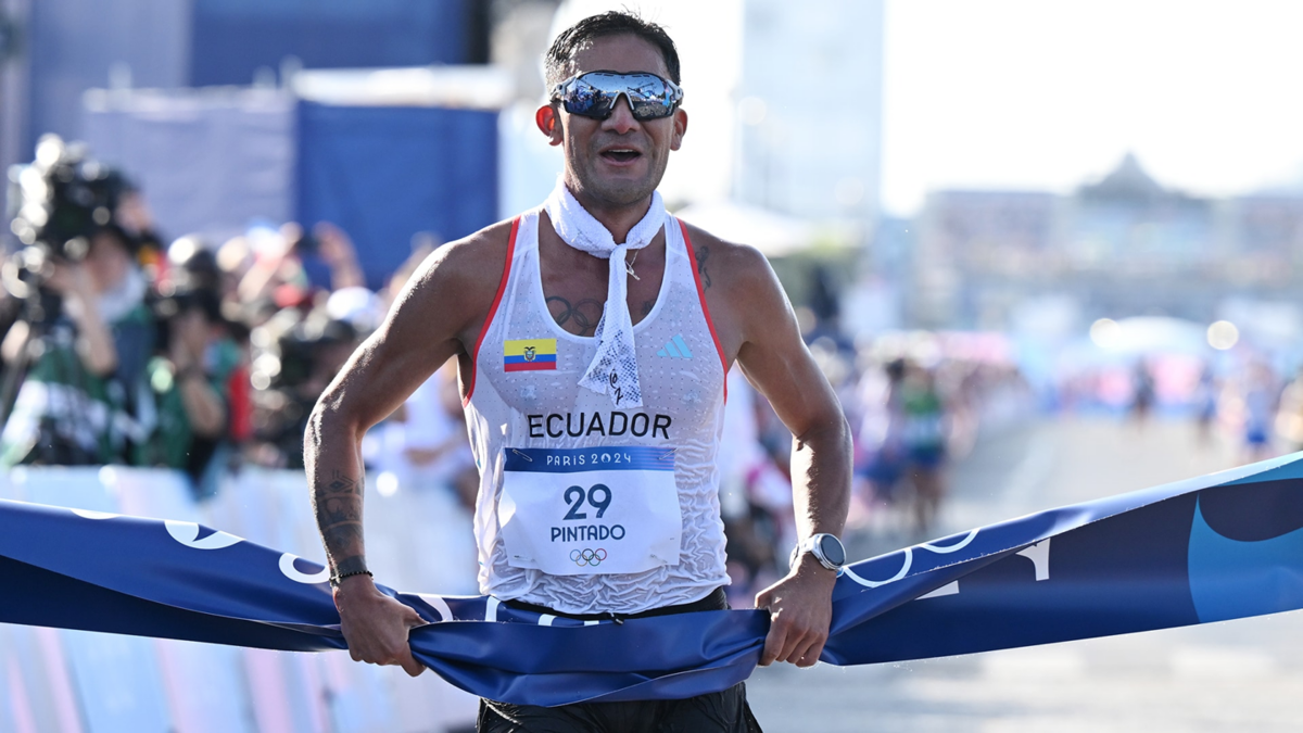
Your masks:
{"label": "sunlit pale grey paved road above and below the tape's right side", "polygon": [[[952,467],[938,535],[1227,468],[1191,426],[1042,423]],[[912,537],[878,532],[857,556]],[[799,670],[748,682],[770,733],[1303,730],[1303,613],[963,657]]]}

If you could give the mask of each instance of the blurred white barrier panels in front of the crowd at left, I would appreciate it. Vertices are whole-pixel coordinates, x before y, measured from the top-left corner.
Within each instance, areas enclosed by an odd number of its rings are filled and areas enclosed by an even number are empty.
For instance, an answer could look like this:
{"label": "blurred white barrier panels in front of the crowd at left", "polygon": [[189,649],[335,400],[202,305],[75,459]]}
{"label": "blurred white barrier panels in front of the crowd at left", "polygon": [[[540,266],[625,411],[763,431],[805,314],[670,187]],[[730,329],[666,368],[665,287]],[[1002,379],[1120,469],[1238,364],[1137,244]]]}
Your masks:
{"label": "blurred white barrier panels in front of the crowd at left", "polygon": [[[375,485],[367,481],[367,485]],[[182,473],[16,468],[0,497],[198,522],[323,562],[302,472],[244,470],[197,505]],[[442,486],[367,497],[367,560],[409,591],[474,593],[470,515]],[[0,592],[21,592],[5,587]],[[0,733],[447,730],[477,702],[433,673],[292,653],[0,625]]]}

